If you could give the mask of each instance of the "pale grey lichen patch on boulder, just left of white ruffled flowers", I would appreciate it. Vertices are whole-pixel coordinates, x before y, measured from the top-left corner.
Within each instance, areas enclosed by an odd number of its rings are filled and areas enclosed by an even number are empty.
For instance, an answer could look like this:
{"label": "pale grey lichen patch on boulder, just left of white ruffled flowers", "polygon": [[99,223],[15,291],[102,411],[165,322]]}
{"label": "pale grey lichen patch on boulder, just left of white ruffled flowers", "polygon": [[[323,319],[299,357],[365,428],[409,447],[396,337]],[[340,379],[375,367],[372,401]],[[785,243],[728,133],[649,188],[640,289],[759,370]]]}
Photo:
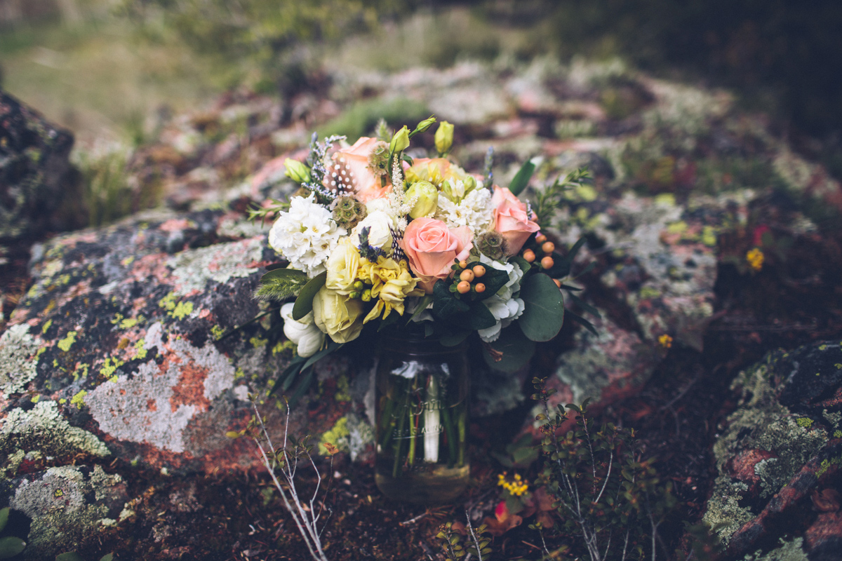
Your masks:
{"label": "pale grey lichen patch on boulder, just left of white ruffled flowers", "polygon": [[261,260],[264,245],[264,238],[260,236],[182,251],[168,262],[176,279],[175,294],[186,296],[194,290],[204,290],[209,280],[222,284],[232,278],[252,275],[256,269],[249,268],[248,264]]}

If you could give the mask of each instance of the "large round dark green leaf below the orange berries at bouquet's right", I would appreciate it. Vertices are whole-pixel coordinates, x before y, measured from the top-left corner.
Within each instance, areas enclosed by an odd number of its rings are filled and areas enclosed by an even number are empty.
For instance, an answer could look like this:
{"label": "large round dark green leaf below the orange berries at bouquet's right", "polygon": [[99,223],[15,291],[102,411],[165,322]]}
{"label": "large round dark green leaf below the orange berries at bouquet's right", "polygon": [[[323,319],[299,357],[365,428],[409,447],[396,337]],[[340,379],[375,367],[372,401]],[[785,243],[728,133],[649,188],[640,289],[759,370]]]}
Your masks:
{"label": "large round dark green leaf below the orange berries at bouquet's right", "polygon": [[527,278],[520,288],[525,307],[518,325],[530,341],[550,341],[558,335],[564,322],[562,292],[545,274]]}

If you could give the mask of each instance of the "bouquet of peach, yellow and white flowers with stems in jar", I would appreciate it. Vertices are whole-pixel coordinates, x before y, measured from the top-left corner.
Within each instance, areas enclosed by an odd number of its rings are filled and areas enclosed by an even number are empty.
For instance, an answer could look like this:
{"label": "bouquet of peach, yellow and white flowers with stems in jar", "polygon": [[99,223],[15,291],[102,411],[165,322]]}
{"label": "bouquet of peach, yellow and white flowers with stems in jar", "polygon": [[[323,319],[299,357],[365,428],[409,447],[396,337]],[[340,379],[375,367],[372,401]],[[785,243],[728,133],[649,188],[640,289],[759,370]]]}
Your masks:
{"label": "bouquet of peach, yellow and white flowers with stems in jar", "polygon": [[438,157],[408,156],[413,136],[434,122],[393,134],[381,123],[379,137],[353,145],[344,137],[319,143],[314,134],[306,162],[285,162],[300,184],[289,203],[253,211],[276,215],[269,245],[288,262],[264,275],[257,295],[294,297],[280,314],[296,355],[274,389],[306,389],[312,365],[366,326],[392,340],[405,334],[386,347],[411,357],[390,357],[384,375],[392,381],[378,379],[378,458],[388,451],[378,473],[396,480],[429,474],[434,465],[466,478],[466,380],[456,375],[466,368],[444,355],[476,333],[491,368],[522,367],[535,341],[549,341],[562,327],[562,290],[576,289],[562,280],[581,246],[562,257],[541,226],[564,189],[587,172],[560,178],[524,203],[518,195],[536,164],[521,167],[508,188],[493,182],[492,151],[482,174],[465,172],[447,158],[447,122],[434,135]]}

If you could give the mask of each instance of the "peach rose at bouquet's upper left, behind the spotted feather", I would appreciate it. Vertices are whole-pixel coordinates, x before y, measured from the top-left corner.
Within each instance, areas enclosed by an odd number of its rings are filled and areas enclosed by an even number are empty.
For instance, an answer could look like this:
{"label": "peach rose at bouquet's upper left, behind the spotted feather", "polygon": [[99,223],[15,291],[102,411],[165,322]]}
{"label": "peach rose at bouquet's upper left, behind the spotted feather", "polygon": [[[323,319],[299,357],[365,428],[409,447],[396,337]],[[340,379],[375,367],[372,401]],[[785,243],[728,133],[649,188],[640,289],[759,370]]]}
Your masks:
{"label": "peach rose at bouquet's upper left, behind the spotted feather", "polygon": [[[325,187],[335,189],[341,179],[363,203],[385,197],[392,190],[392,184],[387,176],[375,173],[370,161],[380,142],[363,136],[354,142],[354,146],[333,152],[333,166],[328,168],[328,175],[324,178]],[[334,173],[336,177],[333,177]]]}

